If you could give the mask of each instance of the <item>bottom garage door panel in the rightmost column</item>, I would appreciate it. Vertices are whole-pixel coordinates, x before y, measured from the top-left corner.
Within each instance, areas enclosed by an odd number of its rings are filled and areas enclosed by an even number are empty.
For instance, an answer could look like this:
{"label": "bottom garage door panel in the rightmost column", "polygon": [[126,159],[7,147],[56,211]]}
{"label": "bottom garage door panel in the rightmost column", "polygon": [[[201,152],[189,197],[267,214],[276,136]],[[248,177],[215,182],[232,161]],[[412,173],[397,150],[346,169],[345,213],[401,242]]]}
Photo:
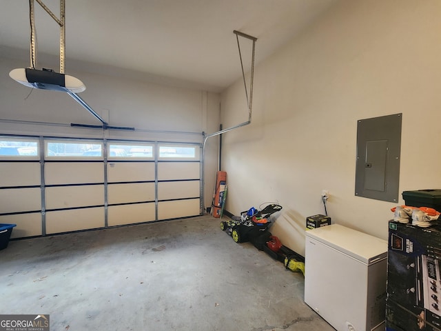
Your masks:
{"label": "bottom garage door panel in the rightmost column", "polygon": [[201,212],[200,201],[201,199],[160,201],[158,203],[158,219],[196,216]]}

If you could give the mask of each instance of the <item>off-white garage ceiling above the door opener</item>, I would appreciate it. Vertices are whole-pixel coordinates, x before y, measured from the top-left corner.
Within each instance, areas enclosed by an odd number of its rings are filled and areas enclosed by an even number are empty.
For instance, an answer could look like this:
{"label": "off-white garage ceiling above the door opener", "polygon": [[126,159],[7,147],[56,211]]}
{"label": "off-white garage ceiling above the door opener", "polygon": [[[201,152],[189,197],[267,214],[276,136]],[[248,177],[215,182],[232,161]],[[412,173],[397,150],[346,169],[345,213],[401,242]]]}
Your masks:
{"label": "off-white garage ceiling above the door opener", "polygon": [[[240,78],[236,34],[262,61],[338,0],[65,0],[65,72],[117,74],[220,92]],[[43,0],[59,17],[59,0]],[[0,56],[30,66],[28,0],[0,0]],[[59,26],[35,6],[37,68],[59,71]],[[252,41],[239,37],[245,70]],[[81,77],[79,77],[81,79]]]}

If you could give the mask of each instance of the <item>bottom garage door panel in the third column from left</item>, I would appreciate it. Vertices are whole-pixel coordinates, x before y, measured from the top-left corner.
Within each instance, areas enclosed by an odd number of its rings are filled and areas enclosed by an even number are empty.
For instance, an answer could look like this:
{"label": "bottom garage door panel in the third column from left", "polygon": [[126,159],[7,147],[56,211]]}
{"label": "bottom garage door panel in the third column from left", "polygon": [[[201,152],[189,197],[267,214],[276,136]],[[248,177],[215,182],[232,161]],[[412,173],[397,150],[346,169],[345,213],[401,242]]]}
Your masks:
{"label": "bottom garage door panel in the third column from left", "polygon": [[109,226],[142,223],[154,220],[154,203],[110,205],[107,210],[107,224]]}

